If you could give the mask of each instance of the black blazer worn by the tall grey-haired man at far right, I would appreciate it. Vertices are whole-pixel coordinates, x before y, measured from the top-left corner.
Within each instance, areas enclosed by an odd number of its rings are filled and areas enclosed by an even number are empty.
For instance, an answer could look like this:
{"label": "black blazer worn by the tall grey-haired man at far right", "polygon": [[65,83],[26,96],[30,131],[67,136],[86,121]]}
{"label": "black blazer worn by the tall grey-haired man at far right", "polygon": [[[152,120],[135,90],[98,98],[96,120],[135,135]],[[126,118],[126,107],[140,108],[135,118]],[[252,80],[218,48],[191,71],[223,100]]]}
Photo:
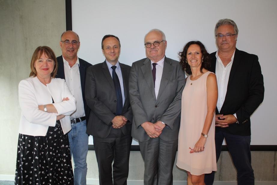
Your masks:
{"label": "black blazer worn by the tall grey-haired man at far right", "polygon": [[[210,54],[211,71],[215,73],[216,52]],[[234,135],[251,135],[250,116],[263,102],[263,75],[257,55],[248,54],[236,49],[227,85],[227,93],[220,110],[216,114],[236,113],[239,124],[229,127],[216,127],[216,131],[224,131]]]}

